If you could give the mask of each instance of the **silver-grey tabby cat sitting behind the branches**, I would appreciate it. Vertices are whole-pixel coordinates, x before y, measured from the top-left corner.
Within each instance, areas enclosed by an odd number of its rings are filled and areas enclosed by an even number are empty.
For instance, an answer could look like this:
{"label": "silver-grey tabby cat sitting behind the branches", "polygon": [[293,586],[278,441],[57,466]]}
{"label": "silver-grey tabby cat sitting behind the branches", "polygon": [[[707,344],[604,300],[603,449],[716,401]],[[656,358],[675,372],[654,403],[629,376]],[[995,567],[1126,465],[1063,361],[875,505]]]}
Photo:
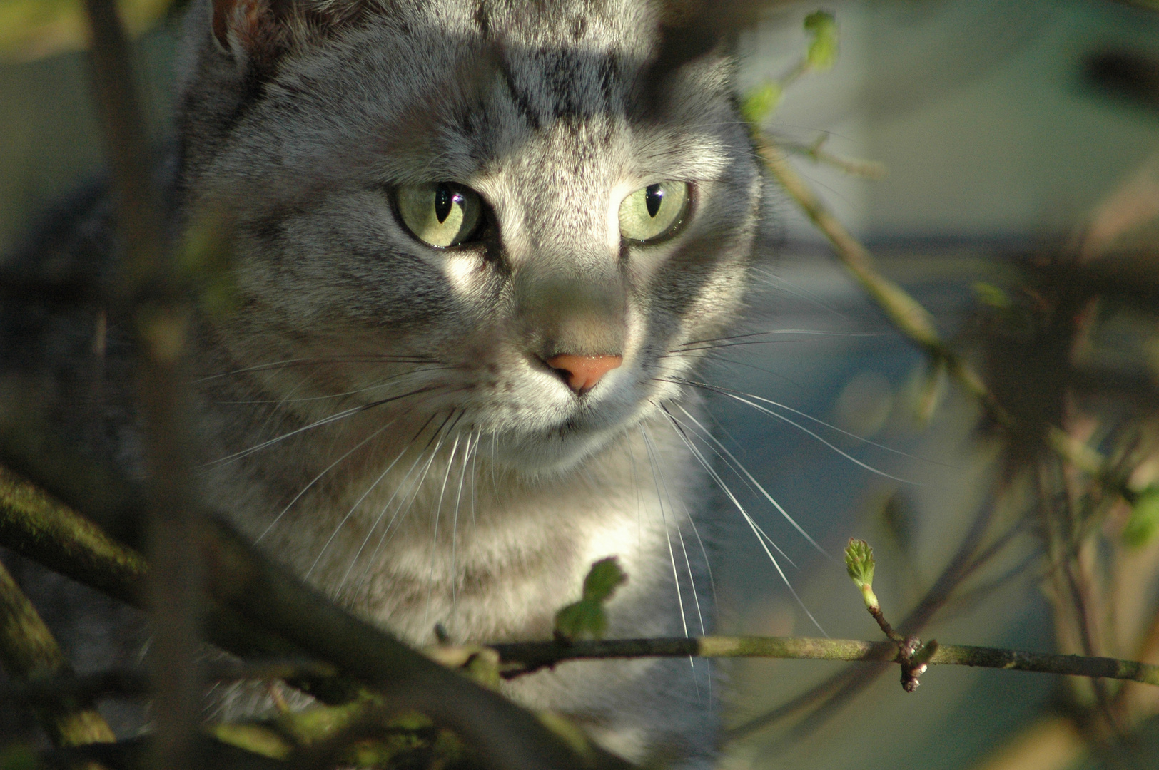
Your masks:
{"label": "silver-grey tabby cat sitting behind the branches", "polygon": [[[175,227],[229,263],[190,339],[203,494],[410,644],[548,639],[608,556],[628,574],[610,637],[712,630],[687,381],[743,308],[763,178],[723,47],[663,50],[690,8],[187,12]],[[131,467],[124,411],[97,443]],[[635,762],[717,751],[702,661],[505,688]]]}

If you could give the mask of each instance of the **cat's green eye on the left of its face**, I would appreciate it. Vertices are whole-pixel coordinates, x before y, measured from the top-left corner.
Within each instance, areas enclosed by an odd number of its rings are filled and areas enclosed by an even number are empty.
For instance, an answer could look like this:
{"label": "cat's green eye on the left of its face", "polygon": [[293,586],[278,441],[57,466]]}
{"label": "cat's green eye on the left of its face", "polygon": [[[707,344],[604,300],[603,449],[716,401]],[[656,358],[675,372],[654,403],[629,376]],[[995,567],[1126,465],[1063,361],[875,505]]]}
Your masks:
{"label": "cat's green eye on the left of its face", "polygon": [[394,190],[399,219],[429,245],[459,245],[469,241],[483,220],[479,193],[453,182],[402,184]]}

